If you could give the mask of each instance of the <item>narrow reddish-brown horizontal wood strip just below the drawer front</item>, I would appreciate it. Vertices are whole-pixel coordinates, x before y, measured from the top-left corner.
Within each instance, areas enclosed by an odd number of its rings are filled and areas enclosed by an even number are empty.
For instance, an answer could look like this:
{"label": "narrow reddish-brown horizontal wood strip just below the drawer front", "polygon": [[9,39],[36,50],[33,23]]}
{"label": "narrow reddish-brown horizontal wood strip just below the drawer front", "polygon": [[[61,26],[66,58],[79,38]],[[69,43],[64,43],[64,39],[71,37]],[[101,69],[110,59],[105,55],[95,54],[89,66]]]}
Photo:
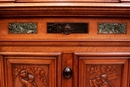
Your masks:
{"label": "narrow reddish-brown horizontal wood strip just below the drawer front", "polygon": [[0,46],[97,46],[130,47],[130,41],[1,41]]}

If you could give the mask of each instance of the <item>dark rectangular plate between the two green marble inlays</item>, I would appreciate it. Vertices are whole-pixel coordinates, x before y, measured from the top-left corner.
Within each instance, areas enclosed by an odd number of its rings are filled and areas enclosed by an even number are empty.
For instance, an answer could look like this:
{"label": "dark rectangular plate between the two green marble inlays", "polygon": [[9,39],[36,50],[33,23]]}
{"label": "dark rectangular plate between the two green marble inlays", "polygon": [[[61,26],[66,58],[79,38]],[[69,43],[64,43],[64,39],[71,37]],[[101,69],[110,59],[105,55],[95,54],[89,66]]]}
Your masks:
{"label": "dark rectangular plate between the two green marble inlays", "polygon": [[88,23],[47,23],[47,33],[88,33]]}

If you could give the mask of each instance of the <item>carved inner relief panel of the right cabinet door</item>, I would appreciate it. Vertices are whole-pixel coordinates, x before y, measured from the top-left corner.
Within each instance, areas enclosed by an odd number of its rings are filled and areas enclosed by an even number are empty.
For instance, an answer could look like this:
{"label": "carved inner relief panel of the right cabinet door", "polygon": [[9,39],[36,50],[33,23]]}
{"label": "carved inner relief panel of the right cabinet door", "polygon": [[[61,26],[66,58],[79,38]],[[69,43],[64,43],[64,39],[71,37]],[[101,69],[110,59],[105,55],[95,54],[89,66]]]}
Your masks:
{"label": "carved inner relief panel of the right cabinet door", "polygon": [[87,87],[121,87],[121,70],[123,65],[88,64],[86,65]]}

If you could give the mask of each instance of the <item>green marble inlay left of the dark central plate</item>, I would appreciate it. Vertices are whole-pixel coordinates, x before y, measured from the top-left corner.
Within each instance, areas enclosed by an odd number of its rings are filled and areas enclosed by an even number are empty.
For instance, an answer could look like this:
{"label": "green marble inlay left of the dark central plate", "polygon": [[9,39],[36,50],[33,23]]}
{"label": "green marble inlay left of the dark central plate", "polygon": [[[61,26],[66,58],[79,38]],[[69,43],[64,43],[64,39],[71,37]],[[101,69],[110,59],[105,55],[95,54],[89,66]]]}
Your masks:
{"label": "green marble inlay left of the dark central plate", "polygon": [[8,25],[10,34],[31,34],[37,33],[37,23],[9,23]]}

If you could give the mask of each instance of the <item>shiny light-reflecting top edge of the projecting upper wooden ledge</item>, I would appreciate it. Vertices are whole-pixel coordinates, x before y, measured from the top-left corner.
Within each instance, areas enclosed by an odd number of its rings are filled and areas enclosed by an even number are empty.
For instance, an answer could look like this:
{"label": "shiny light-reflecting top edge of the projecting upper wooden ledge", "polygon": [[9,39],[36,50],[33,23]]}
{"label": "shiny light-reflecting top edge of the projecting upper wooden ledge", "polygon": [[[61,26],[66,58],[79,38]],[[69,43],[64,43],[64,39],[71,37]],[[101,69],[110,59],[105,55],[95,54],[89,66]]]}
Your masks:
{"label": "shiny light-reflecting top edge of the projecting upper wooden ledge", "polygon": [[1,7],[130,7],[130,3],[0,3]]}

